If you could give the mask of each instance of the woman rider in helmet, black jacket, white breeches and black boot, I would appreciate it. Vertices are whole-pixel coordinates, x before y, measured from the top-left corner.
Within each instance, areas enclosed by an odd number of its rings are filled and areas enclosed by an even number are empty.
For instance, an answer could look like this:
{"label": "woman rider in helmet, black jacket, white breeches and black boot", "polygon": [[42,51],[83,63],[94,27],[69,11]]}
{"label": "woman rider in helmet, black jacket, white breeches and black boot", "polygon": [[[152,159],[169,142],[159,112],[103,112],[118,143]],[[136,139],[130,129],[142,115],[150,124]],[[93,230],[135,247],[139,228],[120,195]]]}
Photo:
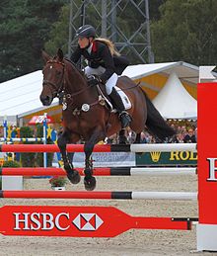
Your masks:
{"label": "woman rider in helmet, black jacket, white breeches and black boot", "polygon": [[113,44],[109,40],[96,39],[96,30],[91,25],[80,27],[76,32],[76,36],[78,37],[78,47],[73,52],[71,60],[76,63],[81,56],[88,60],[85,73],[89,77],[89,84],[106,84],[109,98],[119,114],[121,128],[128,127],[131,117],[125,111],[121,97],[114,88],[118,78],[117,74],[120,75],[126,68],[128,60],[115,51]]}

